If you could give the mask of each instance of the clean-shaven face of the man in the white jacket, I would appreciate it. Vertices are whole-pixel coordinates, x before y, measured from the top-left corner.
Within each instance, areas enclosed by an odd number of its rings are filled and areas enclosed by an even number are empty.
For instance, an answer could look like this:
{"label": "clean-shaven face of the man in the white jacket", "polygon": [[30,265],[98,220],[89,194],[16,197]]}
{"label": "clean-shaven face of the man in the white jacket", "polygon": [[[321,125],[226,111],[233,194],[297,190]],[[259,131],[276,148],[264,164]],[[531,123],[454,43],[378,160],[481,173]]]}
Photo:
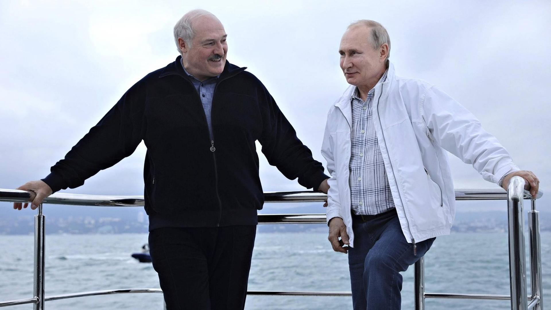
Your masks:
{"label": "clean-shaven face of the man in the white jacket", "polygon": [[341,69],[349,84],[360,90],[369,91],[379,81],[386,70],[388,45],[374,49],[370,42],[370,31],[364,25],[352,26],[345,31],[339,54]]}

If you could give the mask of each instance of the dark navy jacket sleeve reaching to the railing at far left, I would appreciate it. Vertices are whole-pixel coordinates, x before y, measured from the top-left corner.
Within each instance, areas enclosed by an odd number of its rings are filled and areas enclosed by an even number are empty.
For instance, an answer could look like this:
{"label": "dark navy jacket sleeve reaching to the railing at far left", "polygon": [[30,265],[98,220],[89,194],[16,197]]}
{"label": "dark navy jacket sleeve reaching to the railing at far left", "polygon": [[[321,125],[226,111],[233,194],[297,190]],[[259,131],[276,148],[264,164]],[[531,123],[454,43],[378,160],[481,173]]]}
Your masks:
{"label": "dark navy jacket sleeve reaching to the railing at far left", "polygon": [[84,180],[130,156],[142,141],[143,104],[129,89],[97,125],[73,146],[42,179],[55,193],[77,188]]}

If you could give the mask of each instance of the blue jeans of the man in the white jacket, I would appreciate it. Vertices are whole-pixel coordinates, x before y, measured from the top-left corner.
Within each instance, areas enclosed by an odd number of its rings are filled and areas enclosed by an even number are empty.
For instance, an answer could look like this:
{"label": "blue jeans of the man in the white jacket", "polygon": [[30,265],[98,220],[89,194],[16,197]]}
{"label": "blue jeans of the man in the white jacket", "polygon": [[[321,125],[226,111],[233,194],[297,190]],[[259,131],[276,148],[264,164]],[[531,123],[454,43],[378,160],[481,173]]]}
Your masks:
{"label": "blue jeans of the man in the white jacket", "polygon": [[348,249],[354,310],[400,309],[402,275],[425,255],[435,238],[408,243],[396,209],[376,216],[353,216],[354,248]]}

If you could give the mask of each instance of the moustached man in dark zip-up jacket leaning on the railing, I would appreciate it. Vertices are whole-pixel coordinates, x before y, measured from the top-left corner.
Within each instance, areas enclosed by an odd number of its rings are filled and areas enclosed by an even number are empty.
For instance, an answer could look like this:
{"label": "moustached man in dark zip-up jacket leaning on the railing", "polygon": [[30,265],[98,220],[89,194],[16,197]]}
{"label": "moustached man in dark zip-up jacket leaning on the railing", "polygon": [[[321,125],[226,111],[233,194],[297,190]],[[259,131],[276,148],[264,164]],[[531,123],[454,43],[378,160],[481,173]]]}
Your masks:
{"label": "moustached man in dark zip-up jacket leaning on the railing", "polygon": [[226,61],[226,33],[213,14],[188,12],[174,38],[175,62],[134,84],[46,178],[19,189],[33,194],[36,209],[143,140],[150,254],[167,308],[242,309],[264,202],[255,141],[306,188],[327,193],[328,177],[264,85]]}

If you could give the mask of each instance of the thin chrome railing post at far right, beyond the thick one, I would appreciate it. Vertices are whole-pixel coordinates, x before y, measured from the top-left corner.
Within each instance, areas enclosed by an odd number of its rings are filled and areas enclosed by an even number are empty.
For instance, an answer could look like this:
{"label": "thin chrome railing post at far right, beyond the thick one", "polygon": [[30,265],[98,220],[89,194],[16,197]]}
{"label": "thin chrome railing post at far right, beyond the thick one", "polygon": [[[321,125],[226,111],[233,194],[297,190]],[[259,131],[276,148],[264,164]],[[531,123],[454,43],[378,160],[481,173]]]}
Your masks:
{"label": "thin chrome railing post at far right, beyond the thick one", "polygon": [[532,210],[528,212],[528,231],[530,232],[530,277],[532,280],[532,297],[539,297],[539,302],[533,309],[541,310],[543,309],[542,251],[539,239],[539,211],[536,211],[536,199],[532,199]]}

